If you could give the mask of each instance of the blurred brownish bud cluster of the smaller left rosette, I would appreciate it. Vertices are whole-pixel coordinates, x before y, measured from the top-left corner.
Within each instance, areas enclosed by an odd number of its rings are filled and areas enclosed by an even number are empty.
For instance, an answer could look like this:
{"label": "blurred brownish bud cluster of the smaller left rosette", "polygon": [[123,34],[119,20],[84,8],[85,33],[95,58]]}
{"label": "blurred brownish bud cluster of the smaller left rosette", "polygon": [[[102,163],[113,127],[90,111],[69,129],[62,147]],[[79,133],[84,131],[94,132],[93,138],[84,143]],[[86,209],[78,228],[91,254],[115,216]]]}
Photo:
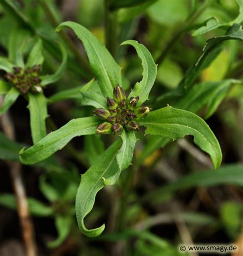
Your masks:
{"label": "blurred brownish bud cluster of the smaller left rosette", "polygon": [[14,67],[13,73],[7,73],[5,77],[22,94],[26,94],[30,90],[32,92],[42,92],[39,72],[40,65],[34,65],[32,68],[28,67],[26,69]]}

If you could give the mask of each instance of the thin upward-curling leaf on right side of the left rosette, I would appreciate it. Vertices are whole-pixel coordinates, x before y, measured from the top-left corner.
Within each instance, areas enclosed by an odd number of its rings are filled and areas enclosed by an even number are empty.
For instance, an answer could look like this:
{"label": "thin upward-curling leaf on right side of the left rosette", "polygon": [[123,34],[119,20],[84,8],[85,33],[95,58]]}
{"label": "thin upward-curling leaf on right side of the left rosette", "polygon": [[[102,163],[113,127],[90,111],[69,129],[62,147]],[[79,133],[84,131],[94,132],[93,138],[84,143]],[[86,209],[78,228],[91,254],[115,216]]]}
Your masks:
{"label": "thin upward-curling leaf on right side of the left rosette", "polygon": [[64,74],[64,71],[66,69],[67,59],[68,59],[68,53],[66,48],[62,44],[59,44],[59,47],[60,47],[60,51],[62,52],[62,63],[60,64],[60,66],[58,67],[58,69],[54,74],[40,76],[42,80],[42,82],[40,82],[40,85],[42,86],[55,83]]}

